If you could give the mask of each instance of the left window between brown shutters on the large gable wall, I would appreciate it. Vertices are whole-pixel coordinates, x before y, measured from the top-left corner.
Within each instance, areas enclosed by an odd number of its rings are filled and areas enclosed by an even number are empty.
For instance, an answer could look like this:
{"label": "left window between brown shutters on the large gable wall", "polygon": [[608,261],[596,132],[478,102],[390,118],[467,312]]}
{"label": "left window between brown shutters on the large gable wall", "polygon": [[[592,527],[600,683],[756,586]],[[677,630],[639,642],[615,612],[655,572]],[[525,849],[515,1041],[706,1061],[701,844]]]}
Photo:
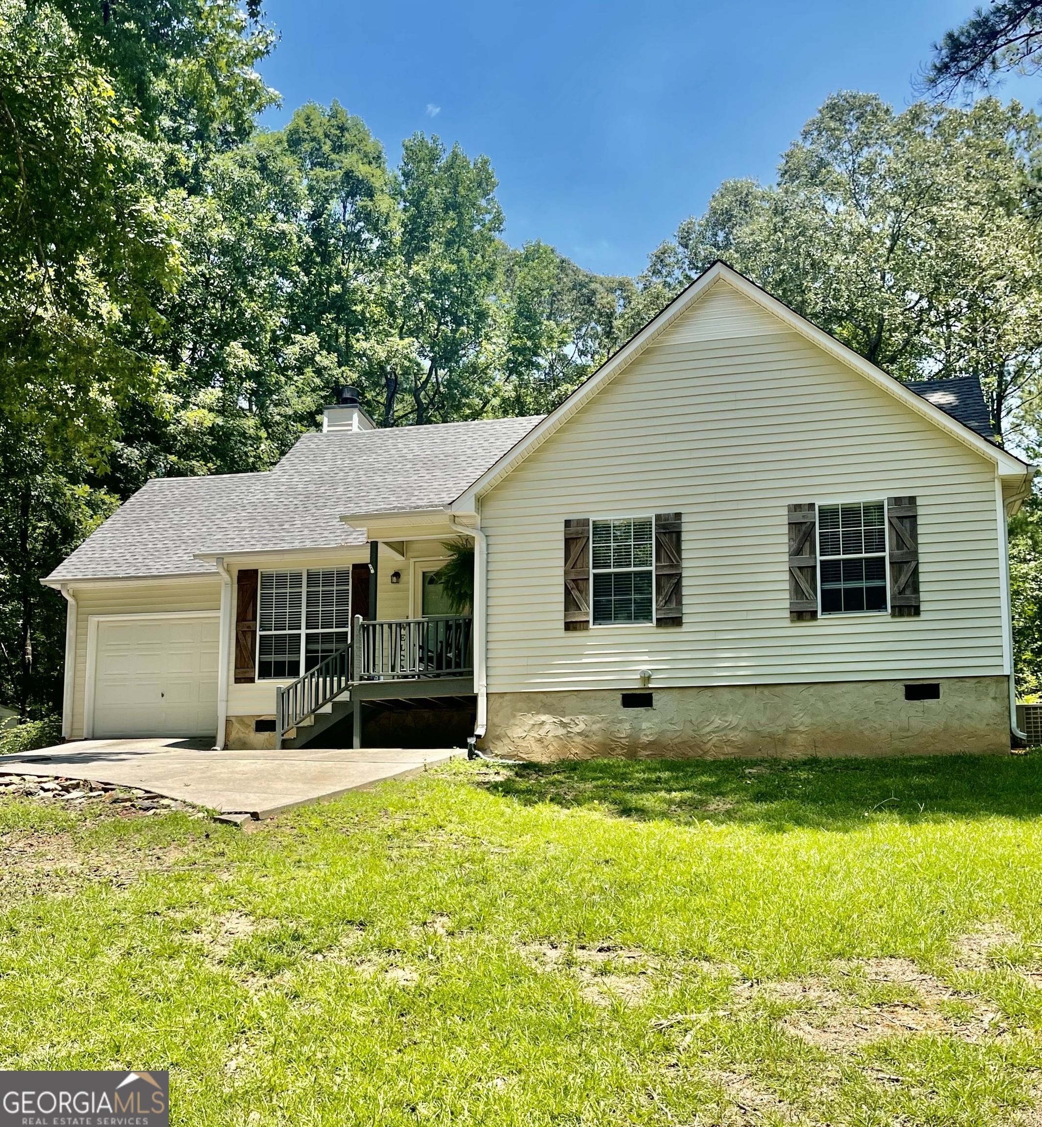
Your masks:
{"label": "left window between brown shutters on the large gable wall", "polygon": [[593,625],[654,621],[655,533],[650,516],[593,521]]}

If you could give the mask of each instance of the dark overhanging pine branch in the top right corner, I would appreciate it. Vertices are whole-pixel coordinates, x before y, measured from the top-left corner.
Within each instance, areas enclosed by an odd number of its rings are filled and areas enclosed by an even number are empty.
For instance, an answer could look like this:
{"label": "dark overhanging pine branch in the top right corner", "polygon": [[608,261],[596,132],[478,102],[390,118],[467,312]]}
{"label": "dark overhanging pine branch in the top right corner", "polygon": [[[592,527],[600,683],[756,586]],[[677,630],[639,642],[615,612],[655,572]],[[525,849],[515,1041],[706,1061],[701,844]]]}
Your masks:
{"label": "dark overhanging pine branch in the top right corner", "polygon": [[924,87],[942,97],[994,85],[1004,71],[1032,74],[1042,64],[1042,2],[998,0],[977,8],[934,44]]}

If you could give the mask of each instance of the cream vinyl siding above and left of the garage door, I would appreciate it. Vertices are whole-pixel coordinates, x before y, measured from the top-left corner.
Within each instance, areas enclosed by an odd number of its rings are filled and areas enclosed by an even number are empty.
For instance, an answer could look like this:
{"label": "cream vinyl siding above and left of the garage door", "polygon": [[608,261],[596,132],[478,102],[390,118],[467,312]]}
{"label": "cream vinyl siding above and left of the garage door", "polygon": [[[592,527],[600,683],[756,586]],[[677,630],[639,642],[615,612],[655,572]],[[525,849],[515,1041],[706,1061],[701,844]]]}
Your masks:
{"label": "cream vinyl siding above and left of the garage door", "polygon": [[[76,668],[72,725],[69,735],[83,735],[87,678],[87,627],[92,614],[169,614],[174,611],[217,611],[221,586],[217,576],[192,579],[127,579],[122,583],[71,584],[77,603]],[[217,674],[214,674],[214,677]]]}

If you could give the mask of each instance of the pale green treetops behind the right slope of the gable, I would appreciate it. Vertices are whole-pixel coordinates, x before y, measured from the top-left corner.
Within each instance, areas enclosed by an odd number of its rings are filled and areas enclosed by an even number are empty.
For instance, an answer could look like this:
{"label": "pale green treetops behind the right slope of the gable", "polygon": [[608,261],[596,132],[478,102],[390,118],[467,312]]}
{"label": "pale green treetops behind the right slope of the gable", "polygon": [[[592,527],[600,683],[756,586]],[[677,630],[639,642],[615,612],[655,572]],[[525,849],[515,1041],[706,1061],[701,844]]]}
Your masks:
{"label": "pale green treetops behind the right slope of the gable", "polygon": [[722,257],[903,380],[975,374],[995,425],[1033,442],[1042,363],[1042,243],[1030,199],[1037,119],[829,98],[776,186],[731,181],[643,277],[661,301]]}

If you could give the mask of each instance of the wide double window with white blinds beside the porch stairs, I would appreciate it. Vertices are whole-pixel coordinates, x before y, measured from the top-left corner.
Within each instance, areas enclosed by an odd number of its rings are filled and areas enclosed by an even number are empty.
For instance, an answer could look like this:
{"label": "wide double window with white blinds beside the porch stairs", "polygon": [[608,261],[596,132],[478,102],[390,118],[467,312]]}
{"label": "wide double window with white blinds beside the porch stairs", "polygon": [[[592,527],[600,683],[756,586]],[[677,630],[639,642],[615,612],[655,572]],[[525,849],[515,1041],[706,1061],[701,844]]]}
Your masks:
{"label": "wide double window with white blinds beside the porch stairs", "polygon": [[351,641],[351,568],[262,571],[257,676],[299,677]]}

